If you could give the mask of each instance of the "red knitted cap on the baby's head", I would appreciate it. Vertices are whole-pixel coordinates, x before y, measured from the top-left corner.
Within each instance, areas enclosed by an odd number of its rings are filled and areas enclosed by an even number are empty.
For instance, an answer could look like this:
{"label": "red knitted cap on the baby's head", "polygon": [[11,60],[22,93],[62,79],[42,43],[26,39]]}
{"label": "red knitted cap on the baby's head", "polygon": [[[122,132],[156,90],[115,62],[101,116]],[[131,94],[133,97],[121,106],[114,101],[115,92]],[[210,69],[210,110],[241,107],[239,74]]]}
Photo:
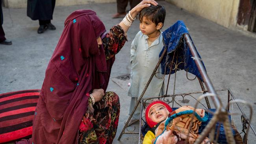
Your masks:
{"label": "red knitted cap on the baby's head", "polygon": [[156,105],[156,104],[163,105],[163,106],[167,109],[167,111],[169,111],[169,113],[171,113],[171,112],[173,111],[173,109],[172,109],[167,103],[165,103],[165,102],[163,102],[163,101],[161,101],[161,100],[154,100],[154,101],[153,101],[152,103],[150,103],[150,104],[146,107],[146,109],[145,109],[145,118],[146,118],[146,122],[147,122],[147,124],[148,124],[148,126],[149,126],[150,128],[152,128],[152,127],[154,127],[154,126],[156,126],[156,125],[158,124],[158,123],[156,123],[156,122],[153,122],[153,121],[149,118],[149,116],[148,116],[148,113],[149,113],[151,107],[153,107],[153,106]]}

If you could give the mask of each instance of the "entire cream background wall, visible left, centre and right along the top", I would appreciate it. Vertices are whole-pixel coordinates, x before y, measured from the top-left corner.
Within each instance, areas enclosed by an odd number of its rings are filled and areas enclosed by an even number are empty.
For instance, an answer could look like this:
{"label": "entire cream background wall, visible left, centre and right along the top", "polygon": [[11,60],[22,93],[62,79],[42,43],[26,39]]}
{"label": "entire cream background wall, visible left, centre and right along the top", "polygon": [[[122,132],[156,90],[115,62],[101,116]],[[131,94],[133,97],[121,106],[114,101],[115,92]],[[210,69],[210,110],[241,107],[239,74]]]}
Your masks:
{"label": "entire cream background wall, visible left, centre and right along the top", "polygon": [[[3,0],[5,7],[9,8],[26,8],[28,0]],[[164,0],[157,0],[164,1]],[[165,0],[173,4],[195,13],[201,17],[209,19],[226,28],[242,29],[247,31],[248,24],[237,24],[239,2],[240,0]],[[242,2],[248,0],[242,0]],[[56,6],[74,6],[93,3],[112,3],[116,0],[56,0]],[[242,14],[243,15],[243,14]],[[242,16],[243,17],[243,16]],[[242,18],[243,19],[243,18]],[[238,20],[238,21],[237,21]]]}

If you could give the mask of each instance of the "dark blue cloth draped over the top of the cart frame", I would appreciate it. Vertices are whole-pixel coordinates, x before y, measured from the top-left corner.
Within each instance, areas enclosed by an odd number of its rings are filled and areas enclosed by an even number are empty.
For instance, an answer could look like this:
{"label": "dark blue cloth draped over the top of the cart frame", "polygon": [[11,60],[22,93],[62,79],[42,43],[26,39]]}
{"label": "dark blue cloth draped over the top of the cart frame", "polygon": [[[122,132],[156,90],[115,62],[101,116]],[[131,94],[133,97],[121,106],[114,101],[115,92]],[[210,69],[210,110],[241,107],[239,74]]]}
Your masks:
{"label": "dark blue cloth draped over the top of the cart frame", "polygon": [[[173,26],[168,28],[167,30],[163,31],[163,39],[164,39],[164,47],[160,52],[159,57],[163,54],[163,50],[165,47],[167,48],[167,53],[164,55],[163,60],[161,61],[161,71],[162,74],[169,74],[170,73],[170,67],[166,66],[170,64],[172,61],[176,63],[177,60],[177,70],[185,70],[191,74],[194,74],[198,78],[200,78],[202,81],[202,77],[198,71],[198,68],[196,66],[195,61],[192,58],[192,54],[189,50],[189,46],[187,45],[187,42],[185,40],[185,37],[183,35],[187,33],[189,35],[189,32],[187,31],[186,25],[182,20],[178,20]],[[189,35],[190,37],[190,35]],[[190,37],[191,39],[191,37]],[[192,39],[191,39],[192,41]],[[193,43],[193,41],[192,41]],[[194,43],[193,43],[194,45]],[[195,46],[195,45],[194,45]],[[178,49],[177,49],[178,48]],[[173,59],[174,51],[177,49],[176,52],[178,52],[178,59],[175,56]],[[195,48],[197,51],[197,49]],[[198,52],[197,52],[198,54]],[[176,55],[176,54],[175,54]],[[198,54],[200,57],[200,55]],[[201,58],[201,57],[200,57]],[[183,63],[181,63],[183,62]],[[202,62],[203,66],[204,63]],[[165,71],[166,67],[166,71]],[[175,70],[173,70],[174,65],[172,66],[171,74],[175,73]],[[204,67],[205,68],[205,67]]]}

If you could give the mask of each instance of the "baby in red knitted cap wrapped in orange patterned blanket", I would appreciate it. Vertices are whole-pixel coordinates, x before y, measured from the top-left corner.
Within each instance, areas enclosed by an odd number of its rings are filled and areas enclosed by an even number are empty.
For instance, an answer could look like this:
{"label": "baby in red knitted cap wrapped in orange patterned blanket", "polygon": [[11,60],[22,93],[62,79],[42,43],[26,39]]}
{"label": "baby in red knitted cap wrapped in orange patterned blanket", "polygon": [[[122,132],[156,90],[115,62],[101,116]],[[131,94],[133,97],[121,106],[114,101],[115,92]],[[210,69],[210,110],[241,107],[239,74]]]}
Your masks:
{"label": "baby in red knitted cap wrapped in orange patterned blanket", "polygon": [[[145,119],[150,129],[143,139],[143,144],[183,144],[186,140],[193,144],[199,137],[198,127],[208,120],[204,109],[195,109],[195,116],[193,111],[191,106],[182,106],[173,111],[167,103],[161,100],[153,101],[145,109]],[[202,142],[208,143],[210,144],[208,138]]]}

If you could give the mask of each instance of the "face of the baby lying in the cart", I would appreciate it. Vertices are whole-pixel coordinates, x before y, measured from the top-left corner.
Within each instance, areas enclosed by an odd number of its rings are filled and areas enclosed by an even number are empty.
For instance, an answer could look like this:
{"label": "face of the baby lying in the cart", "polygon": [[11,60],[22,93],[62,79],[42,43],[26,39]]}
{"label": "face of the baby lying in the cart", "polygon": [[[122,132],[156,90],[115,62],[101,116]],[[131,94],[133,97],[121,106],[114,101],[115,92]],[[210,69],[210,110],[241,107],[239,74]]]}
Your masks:
{"label": "face of the baby lying in the cart", "polygon": [[151,107],[149,111],[149,118],[156,123],[165,120],[168,116],[167,110],[163,105],[157,104]]}

